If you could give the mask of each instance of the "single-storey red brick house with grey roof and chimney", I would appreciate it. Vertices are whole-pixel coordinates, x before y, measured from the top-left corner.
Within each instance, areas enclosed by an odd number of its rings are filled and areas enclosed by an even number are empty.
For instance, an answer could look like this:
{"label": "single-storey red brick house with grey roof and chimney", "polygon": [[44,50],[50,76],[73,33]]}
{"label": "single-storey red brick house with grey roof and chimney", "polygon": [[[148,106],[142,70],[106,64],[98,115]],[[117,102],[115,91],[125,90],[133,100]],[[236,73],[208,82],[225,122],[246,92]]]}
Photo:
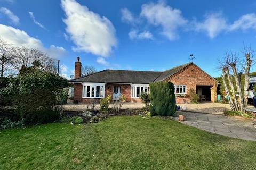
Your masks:
{"label": "single-storey red brick house with grey roof and chimney", "polygon": [[217,100],[218,81],[205,73],[193,62],[163,72],[103,70],[81,77],[82,64],[75,62],[74,101],[86,103],[111,95],[112,100],[121,94],[127,102],[141,102],[142,91],[150,92],[149,83],[170,81],[174,84],[176,103],[189,102],[188,91],[193,88],[204,100]]}

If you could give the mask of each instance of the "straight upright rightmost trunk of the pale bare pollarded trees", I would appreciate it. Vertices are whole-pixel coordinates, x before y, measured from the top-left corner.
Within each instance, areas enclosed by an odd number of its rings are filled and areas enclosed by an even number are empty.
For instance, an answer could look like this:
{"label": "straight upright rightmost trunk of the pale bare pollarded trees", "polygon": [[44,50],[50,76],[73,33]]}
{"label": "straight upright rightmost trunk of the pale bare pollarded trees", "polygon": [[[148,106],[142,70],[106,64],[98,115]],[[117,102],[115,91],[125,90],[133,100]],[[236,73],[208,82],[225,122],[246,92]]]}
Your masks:
{"label": "straight upright rightmost trunk of the pale bare pollarded trees", "polygon": [[244,105],[247,107],[248,105],[248,89],[249,89],[249,73],[253,62],[253,50],[251,49],[251,46],[245,46],[242,50],[242,53],[245,57],[245,63],[243,65],[244,70]]}

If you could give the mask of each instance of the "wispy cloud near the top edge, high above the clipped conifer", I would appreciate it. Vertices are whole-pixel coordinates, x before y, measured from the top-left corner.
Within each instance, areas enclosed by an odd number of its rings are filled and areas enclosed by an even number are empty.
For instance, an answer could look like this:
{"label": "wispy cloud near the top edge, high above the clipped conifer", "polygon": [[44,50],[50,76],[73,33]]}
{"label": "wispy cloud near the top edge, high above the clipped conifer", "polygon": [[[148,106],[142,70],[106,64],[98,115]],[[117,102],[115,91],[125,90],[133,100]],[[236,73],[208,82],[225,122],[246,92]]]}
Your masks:
{"label": "wispy cloud near the top edge, high above the clipped conifer", "polygon": [[169,40],[178,39],[178,30],[187,23],[179,9],[173,9],[162,1],[143,4],[140,16],[146,18],[149,24],[162,27],[162,34]]}

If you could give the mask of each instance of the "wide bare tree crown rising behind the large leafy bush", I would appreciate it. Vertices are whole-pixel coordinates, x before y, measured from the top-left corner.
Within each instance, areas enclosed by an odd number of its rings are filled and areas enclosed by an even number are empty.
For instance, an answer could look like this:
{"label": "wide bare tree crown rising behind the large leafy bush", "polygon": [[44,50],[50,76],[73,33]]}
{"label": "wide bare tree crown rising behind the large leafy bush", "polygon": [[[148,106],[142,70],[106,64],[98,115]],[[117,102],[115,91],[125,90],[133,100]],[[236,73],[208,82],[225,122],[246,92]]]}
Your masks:
{"label": "wide bare tree crown rising behind the large leafy bush", "polygon": [[57,69],[57,60],[38,49],[16,47],[12,49],[11,57],[11,64],[16,73],[22,67],[31,67],[33,65],[37,65],[39,69],[44,71],[56,72]]}

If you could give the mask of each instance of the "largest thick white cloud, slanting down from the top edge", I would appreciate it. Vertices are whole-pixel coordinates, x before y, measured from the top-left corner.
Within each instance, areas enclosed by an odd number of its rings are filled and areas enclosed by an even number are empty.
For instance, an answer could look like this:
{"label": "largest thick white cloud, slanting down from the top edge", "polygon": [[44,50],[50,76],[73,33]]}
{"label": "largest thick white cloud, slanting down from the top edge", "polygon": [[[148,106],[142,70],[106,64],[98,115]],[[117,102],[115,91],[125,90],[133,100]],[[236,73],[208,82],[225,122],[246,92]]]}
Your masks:
{"label": "largest thick white cloud, slanting down from the top edge", "polygon": [[73,50],[109,56],[117,45],[113,24],[75,0],[61,0],[61,7],[66,14],[66,31],[76,44]]}

